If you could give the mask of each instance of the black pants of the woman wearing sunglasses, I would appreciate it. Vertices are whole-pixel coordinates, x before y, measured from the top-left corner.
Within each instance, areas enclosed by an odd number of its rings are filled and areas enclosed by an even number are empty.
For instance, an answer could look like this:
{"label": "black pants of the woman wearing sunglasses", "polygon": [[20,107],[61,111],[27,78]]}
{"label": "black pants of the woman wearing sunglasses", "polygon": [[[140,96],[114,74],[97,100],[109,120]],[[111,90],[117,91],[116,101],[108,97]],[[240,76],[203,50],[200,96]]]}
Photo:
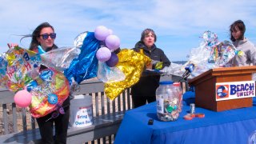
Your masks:
{"label": "black pants of the woman wearing sunglasses", "polygon": [[[57,118],[51,118],[51,114],[47,114],[42,118],[37,118],[42,143],[66,143],[66,134],[69,126],[70,106],[64,107],[65,114],[59,114]],[[55,138],[53,128],[55,126]]]}

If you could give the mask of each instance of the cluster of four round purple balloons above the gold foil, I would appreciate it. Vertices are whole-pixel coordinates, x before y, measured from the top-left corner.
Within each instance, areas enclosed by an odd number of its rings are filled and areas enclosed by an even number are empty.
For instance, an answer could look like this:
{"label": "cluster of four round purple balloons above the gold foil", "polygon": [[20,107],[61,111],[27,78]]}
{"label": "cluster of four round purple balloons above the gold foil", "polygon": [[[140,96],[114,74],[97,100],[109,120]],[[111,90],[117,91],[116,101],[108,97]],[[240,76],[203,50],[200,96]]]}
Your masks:
{"label": "cluster of four round purple balloons above the gold foil", "polygon": [[118,56],[114,50],[120,47],[120,39],[113,34],[113,31],[107,29],[106,26],[98,26],[94,30],[94,36],[102,41],[101,48],[96,53],[96,58],[100,62],[106,62],[107,66],[114,67],[118,64]]}

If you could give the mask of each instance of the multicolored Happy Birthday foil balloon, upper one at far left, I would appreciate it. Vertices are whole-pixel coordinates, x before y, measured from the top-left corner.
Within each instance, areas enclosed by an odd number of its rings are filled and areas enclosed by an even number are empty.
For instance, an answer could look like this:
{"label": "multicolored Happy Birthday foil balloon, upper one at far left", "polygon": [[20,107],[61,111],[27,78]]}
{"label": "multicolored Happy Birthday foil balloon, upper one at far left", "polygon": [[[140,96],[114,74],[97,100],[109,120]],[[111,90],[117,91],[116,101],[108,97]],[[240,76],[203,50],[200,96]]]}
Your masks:
{"label": "multicolored Happy Birthday foil balloon, upper one at far left", "polygon": [[38,71],[42,64],[39,54],[18,46],[6,52],[6,60],[7,87],[11,91],[22,90],[26,83],[33,81],[30,73]]}

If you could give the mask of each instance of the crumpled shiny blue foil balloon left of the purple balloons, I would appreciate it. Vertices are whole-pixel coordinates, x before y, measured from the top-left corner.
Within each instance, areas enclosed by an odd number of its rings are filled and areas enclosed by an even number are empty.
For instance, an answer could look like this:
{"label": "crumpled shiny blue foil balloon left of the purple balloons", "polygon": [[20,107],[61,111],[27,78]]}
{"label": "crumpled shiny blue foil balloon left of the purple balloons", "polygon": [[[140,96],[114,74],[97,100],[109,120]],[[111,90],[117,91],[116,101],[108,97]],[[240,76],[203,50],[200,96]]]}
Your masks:
{"label": "crumpled shiny blue foil balloon left of the purple balloons", "polygon": [[70,85],[72,78],[79,84],[85,79],[97,77],[98,59],[96,58],[96,52],[99,44],[100,41],[94,37],[94,33],[87,32],[78,58],[74,58],[70,63],[70,67],[64,70],[64,74],[69,80]]}

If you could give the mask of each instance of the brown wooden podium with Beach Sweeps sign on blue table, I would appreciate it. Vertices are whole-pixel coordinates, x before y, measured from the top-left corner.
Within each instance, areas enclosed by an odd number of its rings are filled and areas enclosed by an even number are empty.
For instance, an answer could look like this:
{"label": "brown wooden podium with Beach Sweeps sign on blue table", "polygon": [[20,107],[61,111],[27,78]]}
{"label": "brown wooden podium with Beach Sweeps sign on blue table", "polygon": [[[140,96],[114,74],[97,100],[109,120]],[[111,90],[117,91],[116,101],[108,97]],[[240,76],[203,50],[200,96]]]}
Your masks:
{"label": "brown wooden podium with Beach Sweeps sign on blue table", "polygon": [[[223,67],[208,70],[198,75],[198,77],[190,79],[190,86],[195,86],[195,105],[214,111],[252,106],[252,97],[255,96],[255,83],[252,81],[252,74],[254,73],[256,73],[256,66]],[[219,88],[220,85],[224,88]],[[248,87],[249,85],[250,89]],[[227,86],[229,86],[229,88],[227,88]],[[221,92],[220,89],[224,91],[229,90],[229,93],[231,92],[231,94],[233,94],[234,86],[238,86],[236,87],[238,91],[241,89],[241,86],[243,86],[242,90],[246,89],[246,91],[242,91],[242,94],[246,94],[247,97],[241,97],[241,93],[239,93],[237,95],[239,95],[240,98],[218,99],[217,96]]]}

